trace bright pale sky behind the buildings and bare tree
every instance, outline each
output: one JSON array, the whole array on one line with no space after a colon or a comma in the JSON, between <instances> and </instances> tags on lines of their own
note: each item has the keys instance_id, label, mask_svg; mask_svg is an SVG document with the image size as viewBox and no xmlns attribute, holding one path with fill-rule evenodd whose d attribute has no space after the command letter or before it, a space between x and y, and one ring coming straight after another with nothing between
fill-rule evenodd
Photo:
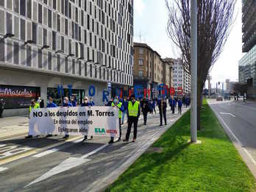
<instances>
[{"instance_id":1,"label":"bright pale sky behind the buildings and bare tree","mask_svg":"<svg viewBox=\"0 0 256 192\"><path fill-rule=\"evenodd\" d=\"M216 82L225 82L225 79L238 81L238 62L243 57L241 6L241 1L238 1L235 23L224 50L210 71L212 88L216 88ZM163 58L177 58L179 51L166 32L167 21L165 0L134 0L134 42L147 43Z\"/></svg>"}]
</instances>

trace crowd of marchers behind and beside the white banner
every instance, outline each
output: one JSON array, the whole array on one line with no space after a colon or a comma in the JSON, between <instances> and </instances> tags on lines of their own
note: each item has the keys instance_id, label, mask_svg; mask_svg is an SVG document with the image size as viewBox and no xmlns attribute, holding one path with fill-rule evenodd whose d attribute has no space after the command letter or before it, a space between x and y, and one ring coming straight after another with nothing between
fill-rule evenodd
<instances>
[{"instance_id":1,"label":"crowd of marchers behind and beside the white banner","mask_svg":"<svg viewBox=\"0 0 256 192\"><path fill-rule=\"evenodd\" d=\"M138 127L138 119L143 114L143 122L144 125L146 125L147 116L148 114L156 114L156 107L158 107L159 115L160 115L160 126L163 126L163 120L164 123L167 124L166 120L166 110L168 107L171 108L171 113L175 113L175 108L178 107L178 114L182 114L182 105L185 105L188 107L190 105L190 98L183 96L182 98L177 97L169 97L166 98L154 98L154 99L147 99L144 97L141 100L138 100L135 98L135 95L132 94L130 97L124 96L123 99L119 99L118 96L115 96L113 99L110 99L109 102L105 104L105 106L110 107L118 107L119 113L118 113L118 121L119 121L119 138L118 141L121 141L121 125L124 124L124 117L127 115L127 134L125 135L124 142L129 141L129 135L132 129L133 125L133 139L132 142L135 142L137 138L137 127ZM71 96L71 99L68 99L68 97L63 98L63 102L60 107L77 107L77 99L75 96ZM80 107L93 107L95 106L95 103L93 102L92 98L88 98L88 96L85 96L84 99L82 99L82 104L79 105ZM44 107L44 102L42 99L38 98L38 100L32 99L31 105L29 106L29 113L32 109L39 109ZM54 99L49 97L47 101L47 108L51 107L57 107L57 104L54 103ZM46 137L51 137L52 135L46 135ZM32 135L26 136L26 138L32 138ZM64 139L69 138L69 135L66 134ZM90 139L92 139L93 136L90 136ZM88 135L85 135L84 141L88 140ZM109 143L114 143L114 138L110 138Z\"/></svg>"}]
</instances>

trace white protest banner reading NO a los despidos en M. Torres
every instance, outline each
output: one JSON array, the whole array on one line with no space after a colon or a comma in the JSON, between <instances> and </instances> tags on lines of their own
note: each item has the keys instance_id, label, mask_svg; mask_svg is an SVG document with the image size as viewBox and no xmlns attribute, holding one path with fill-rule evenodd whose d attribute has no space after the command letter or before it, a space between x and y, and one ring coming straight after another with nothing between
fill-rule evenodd
<instances>
[{"instance_id":1,"label":"white protest banner reading NO a los despidos en M. Torres","mask_svg":"<svg viewBox=\"0 0 256 192\"><path fill-rule=\"evenodd\" d=\"M32 110L29 135L119 137L118 108L56 107Z\"/></svg>"}]
</instances>

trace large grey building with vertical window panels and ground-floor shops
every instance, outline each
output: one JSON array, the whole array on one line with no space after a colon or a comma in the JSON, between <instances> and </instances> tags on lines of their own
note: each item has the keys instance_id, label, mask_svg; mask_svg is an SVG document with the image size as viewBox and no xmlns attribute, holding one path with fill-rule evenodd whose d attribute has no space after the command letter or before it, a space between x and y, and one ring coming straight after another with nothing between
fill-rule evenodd
<instances>
[{"instance_id":1,"label":"large grey building with vertical window panels and ground-floor shops","mask_svg":"<svg viewBox=\"0 0 256 192\"><path fill-rule=\"evenodd\" d=\"M0 0L0 24L5 116L57 101L58 86L80 103L94 85L102 105L107 82L133 85L133 0Z\"/></svg>"}]
</instances>

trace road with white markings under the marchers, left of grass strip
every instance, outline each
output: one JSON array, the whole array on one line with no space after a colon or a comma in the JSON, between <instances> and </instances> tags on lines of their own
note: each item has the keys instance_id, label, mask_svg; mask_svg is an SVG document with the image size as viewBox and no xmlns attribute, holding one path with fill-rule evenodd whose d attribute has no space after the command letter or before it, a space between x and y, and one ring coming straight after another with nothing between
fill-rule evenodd
<instances>
[{"instance_id":1,"label":"road with white markings under the marchers, left of grass strip","mask_svg":"<svg viewBox=\"0 0 256 192\"><path fill-rule=\"evenodd\" d=\"M58 136L0 141L0 191L102 191L179 117L168 110L168 126L163 127L158 114L149 115L146 126L141 119L135 143L108 145L109 138L100 137L63 141ZM125 125L123 137L126 130Z\"/></svg>"}]
</instances>

